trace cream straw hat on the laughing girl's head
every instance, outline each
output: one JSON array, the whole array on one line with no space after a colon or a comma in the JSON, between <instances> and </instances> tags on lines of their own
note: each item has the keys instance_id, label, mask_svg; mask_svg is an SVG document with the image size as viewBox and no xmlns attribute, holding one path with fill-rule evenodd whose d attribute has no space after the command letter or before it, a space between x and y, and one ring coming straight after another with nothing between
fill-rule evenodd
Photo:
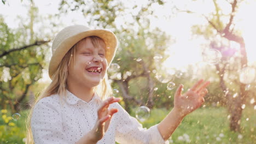
<instances>
[{"instance_id":1,"label":"cream straw hat on the laughing girl's head","mask_svg":"<svg viewBox=\"0 0 256 144\"><path fill-rule=\"evenodd\" d=\"M53 74L59 67L62 58L71 47L86 37L97 36L104 40L106 44L106 59L108 65L112 62L115 51L117 51L117 37L113 32L106 29L90 29L83 25L74 25L62 29L54 38L51 50L53 56L49 64L49 76L52 79Z\"/></svg>"}]
</instances>

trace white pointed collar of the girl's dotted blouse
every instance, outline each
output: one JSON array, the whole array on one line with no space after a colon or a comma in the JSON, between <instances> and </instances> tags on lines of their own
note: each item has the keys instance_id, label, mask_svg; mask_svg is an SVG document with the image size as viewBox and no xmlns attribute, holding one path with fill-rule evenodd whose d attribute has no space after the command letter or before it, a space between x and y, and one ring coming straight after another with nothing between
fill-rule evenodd
<instances>
[{"instance_id":1,"label":"white pointed collar of the girl's dotted blouse","mask_svg":"<svg viewBox=\"0 0 256 144\"><path fill-rule=\"evenodd\" d=\"M75 96L73 93L69 92L67 89L67 95L66 95L66 101L68 104L71 104L71 105L74 105L74 104L77 104L78 101L82 101L83 103L86 103L86 101L78 98L77 96ZM88 103L91 103L92 101L102 101L101 98L98 96L97 93L94 93L94 96L92 97L92 99L88 102Z\"/></svg>"}]
</instances>

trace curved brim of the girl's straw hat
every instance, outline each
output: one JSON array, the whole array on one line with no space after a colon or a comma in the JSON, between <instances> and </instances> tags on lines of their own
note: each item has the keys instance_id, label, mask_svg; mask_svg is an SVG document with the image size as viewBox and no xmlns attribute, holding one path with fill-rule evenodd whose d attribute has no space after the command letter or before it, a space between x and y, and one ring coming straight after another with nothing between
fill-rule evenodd
<instances>
[{"instance_id":1,"label":"curved brim of the girl's straw hat","mask_svg":"<svg viewBox=\"0 0 256 144\"><path fill-rule=\"evenodd\" d=\"M71 49L71 47L78 43L78 41L90 36L97 36L104 40L106 44L107 62L108 64L112 62L115 51L117 50L117 37L113 32L107 31L106 29L90 29L62 40L61 43L56 47L49 64L50 79L52 79L53 74L59 67L62 58Z\"/></svg>"}]
</instances>

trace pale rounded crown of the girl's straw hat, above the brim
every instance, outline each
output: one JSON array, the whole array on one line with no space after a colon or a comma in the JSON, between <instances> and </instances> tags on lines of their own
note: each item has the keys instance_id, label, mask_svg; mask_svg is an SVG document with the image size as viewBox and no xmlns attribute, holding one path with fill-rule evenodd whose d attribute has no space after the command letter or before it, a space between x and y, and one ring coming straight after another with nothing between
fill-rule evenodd
<instances>
[{"instance_id":1,"label":"pale rounded crown of the girl's straw hat, above the brim","mask_svg":"<svg viewBox=\"0 0 256 144\"><path fill-rule=\"evenodd\" d=\"M54 53L56 48L62 43L62 41L65 41L73 35L88 31L90 29L91 28L83 25L73 25L62 29L54 38L53 45L51 46L51 52Z\"/></svg>"}]
</instances>

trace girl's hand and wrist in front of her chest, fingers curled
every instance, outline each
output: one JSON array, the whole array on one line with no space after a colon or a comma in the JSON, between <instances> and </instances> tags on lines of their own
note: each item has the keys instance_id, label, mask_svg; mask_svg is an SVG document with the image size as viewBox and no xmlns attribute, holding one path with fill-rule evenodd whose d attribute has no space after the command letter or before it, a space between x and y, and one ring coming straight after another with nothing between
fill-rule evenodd
<instances>
[{"instance_id":1,"label":"girl's hand and wrist in front of her chest, fingers curled","mask_svg":"<svg viewBox=\"0 0 256 144\"><path fill-rule=\"evenodd\" d=\"M92 140L94 142L97 142L102 139L105 132L108 129L108 125L110 122L110 119L114 115L114 113L118 112L118 109L108 109L108 106L112 103L119 102L120 98L114 98L110 97L103 101L100 108L98 109L98 119L94 126L94 128L91 130L92 132Z\"/></svg>"}]
</instances>

